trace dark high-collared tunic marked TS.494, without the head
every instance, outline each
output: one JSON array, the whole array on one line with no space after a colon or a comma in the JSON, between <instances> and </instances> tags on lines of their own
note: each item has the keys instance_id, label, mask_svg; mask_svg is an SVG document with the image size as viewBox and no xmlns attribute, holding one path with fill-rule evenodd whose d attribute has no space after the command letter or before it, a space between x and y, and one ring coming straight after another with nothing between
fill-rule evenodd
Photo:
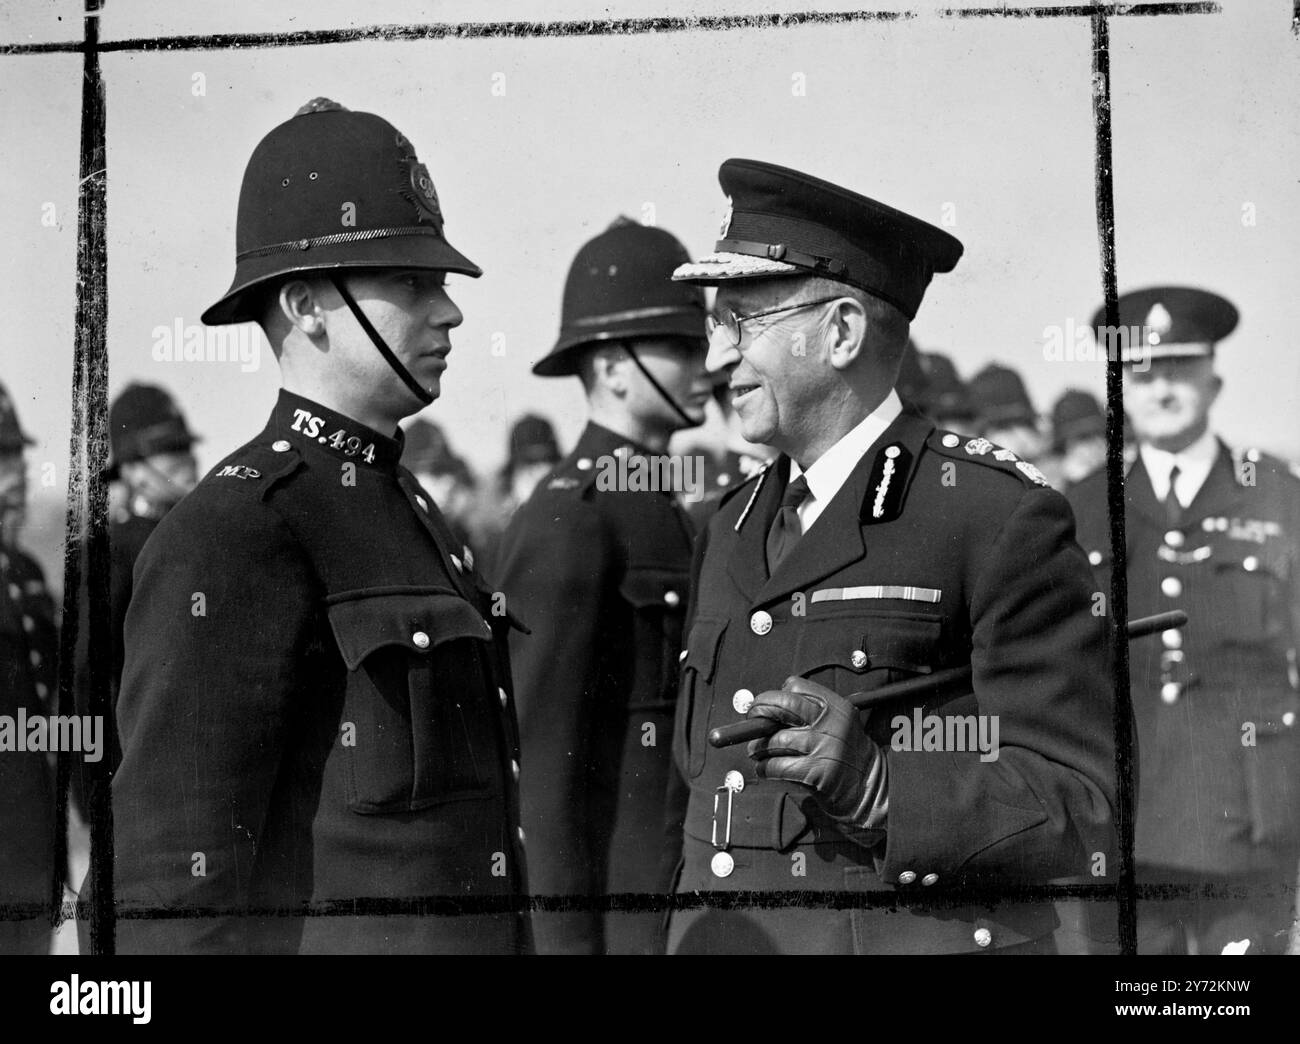
<instances>
[{"instance_id":1,"label":"dark high-collared tunic marked TS.494, without the head","mask_svg":"<svg viewBox=\"0 0 1300 1044\"><path fill-rule=\"evenodd\" d=\"M148 541L118 900L277 913L120 919L118 952L528 945L508 616L400 449L282 391Z\"/></svg>"}]
</instances>

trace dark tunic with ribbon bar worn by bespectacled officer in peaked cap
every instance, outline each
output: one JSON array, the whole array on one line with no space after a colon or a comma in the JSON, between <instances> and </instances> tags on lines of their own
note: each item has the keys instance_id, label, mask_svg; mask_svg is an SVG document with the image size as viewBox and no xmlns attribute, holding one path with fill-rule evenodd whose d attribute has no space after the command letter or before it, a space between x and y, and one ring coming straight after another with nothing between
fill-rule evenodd
<instances>
[{"instance_id":1,"label":"dark tunic with ribbon bar worn by bespectacled officer in peaked cap","mask_svg":"<svg viewBox=\"0 0 1300 1044\"><path fill-rule=\"evenodd\" d=\"M673 738L690 787L677 892L777 894L675 913L670 950L1050 948L1050 902L1018 889L1118 871L1108 631L1069 506L1014 454L909 410L768 577L788 468L779 458L737 489L702 538ZM790 675L848 696L962 664L974 694L866 716L889 774L875 845L841 832L809 788L758 779L744 745L706 740ZM920 737L894 749L897 718L914 712L996 715L997 759ZM809 894L831 892L885 904Z\"/></svg>"}]
</instances>

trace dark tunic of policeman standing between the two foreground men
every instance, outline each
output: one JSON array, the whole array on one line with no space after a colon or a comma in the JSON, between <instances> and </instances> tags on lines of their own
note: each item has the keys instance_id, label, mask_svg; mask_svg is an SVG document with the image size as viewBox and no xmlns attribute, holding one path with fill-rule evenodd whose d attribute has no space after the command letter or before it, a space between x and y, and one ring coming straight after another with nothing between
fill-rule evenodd
<instances>
[{"instance_id":1,"label":"dark tunic of policeman standing between the two foreground men","mask_svg":"<svg viewBox=\"0 0 1300 1044\"><path fill-rule=\"evenodd\" d=\"M663 945L662 914L602 918L594 902L663 894L670 884L664 788L690 524L672 491L602 489L601 480L615 462L634 467L646 454L589 424L502 543L500 588L532 629L511 640L529 884L580 906L534 914L541 952Z\"/></svg>"}]
</instances>

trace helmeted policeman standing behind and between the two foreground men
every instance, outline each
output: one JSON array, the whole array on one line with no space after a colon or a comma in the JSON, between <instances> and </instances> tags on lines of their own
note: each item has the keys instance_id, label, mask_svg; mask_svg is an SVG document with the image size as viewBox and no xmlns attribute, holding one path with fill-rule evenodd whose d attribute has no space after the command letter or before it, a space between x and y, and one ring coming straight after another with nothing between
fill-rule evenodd
<instances>
[{"instance_id":1,"label":"helmeted policeman standing behind and between the two foreground men","mask_svg":"<svg viewBox=\"0 0 1300 1044\"><path fill-rule=\"evenodd\" d=\"M663 946L662 913L597 904L670 887L664 789L693 536L672 478L698 476L680 458L673 472L667 447L703 421L711 393L703 294L671 281L686 260L667 231L616 221L575 257L559 338L533 367L578 377L589 413L500 551L500 588L532 628L511 642L530 884L578 904L534 914L545 953Z\"/></svg>"}]
</instances>

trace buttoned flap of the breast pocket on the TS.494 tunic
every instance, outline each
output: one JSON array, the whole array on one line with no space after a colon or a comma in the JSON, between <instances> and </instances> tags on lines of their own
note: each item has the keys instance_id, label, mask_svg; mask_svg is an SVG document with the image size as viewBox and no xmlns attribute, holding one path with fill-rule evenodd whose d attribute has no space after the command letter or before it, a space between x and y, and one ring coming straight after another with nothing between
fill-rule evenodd
<instances>
[{"instance_id":1,"label":"buttoned flap of the breast pocket on the TS.494 tunic","mask_svg":"<svg viewBox=\"0 0 1300 1044\"><path fill-rule=\"evenodd\" d=\"M348 594L329 606L329 623L348 671L390 645L428 653L455 638L491 641L488 621L451 593Z\"/></svg>"}]
</instances>

